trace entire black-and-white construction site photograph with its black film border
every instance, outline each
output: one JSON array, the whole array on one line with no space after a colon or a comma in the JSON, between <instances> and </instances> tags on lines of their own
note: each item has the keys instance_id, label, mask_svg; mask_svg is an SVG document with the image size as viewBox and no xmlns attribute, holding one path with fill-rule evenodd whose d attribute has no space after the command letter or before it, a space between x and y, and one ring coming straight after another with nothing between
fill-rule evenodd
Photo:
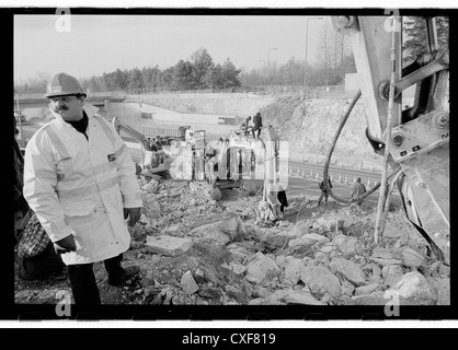
<instances>
[{"instance_id":1,"label":"entire black-and-white construction site photograph with its black film border","mask_svg":"<svg viewBox=\"0 0 458 350\"><path fill-rule=\"evenodd\" d=\"M453 11L12 12L14 307L396 320L453 305Z\"/></svg>"}]
</instances>

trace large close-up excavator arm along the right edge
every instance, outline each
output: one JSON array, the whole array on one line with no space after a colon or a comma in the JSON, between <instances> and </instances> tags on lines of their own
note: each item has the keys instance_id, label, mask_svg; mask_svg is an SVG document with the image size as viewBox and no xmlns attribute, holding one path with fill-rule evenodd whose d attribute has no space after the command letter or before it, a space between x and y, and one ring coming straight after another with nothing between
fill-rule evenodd
<instances>
[{"instance_id":1,"label":"large close-up excavator arm along the right edge","mask_svg":"<svg viewBox=\"0 0 458 350\"><path fill-rule=\"evenodd\" d=\"M390 26L388 16L334 16L336 31L352 39L363 100L366 136L376 153L401 167L398 187L409 220L449 261L449 113L444 109L448 83L448 49L439 50L434 18L426 18L427 52L403 67L402 18ZM394 39L393 39L393 32ZM396 48L396 57L392 55ZM393 67L394 62L394 67ZM391 138L387 140L390 77L394 71ZM415 85L413 106L402 110L402 92Z\"/></svg>"}]
</instances>

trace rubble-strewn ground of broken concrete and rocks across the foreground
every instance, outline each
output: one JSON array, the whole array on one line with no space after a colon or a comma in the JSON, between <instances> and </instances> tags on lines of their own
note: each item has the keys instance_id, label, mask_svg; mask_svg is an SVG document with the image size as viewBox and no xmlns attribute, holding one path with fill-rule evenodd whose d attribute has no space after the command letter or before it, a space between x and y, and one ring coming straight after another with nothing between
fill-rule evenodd
<instances>
[{"instance_id":1,"label":"rubble-strewn ground of broken concrete and rocks across the foreground","mask_svg":"<svg viewBox=\"0 0 458 350\"><path fill-rule=\"evenodd\" d=\"M402 305L450 304L449 267L400 208L376 244L376 208L367 205L288 198L284 220L265 224L256 219L260 186L140 185L144 213L123 262L140 273L113 288L95 264L104 304L386 305L393 296ZM56 303L59 291L69 291L66 278L15 279L16 303Z\"/></svg>"}]
</instances>

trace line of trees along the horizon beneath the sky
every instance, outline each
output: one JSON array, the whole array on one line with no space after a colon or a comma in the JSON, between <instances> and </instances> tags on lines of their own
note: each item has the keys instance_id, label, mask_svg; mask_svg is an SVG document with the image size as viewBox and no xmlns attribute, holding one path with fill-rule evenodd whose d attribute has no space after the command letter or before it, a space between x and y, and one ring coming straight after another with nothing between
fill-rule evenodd
<instances>
[{"instance_id":1,"label":"line of trees along the horizon beneath the sky","mask_svg":"<svg viewBox=\"0 0 458 350\"><path fill-rule=\"evenodd\" d=\"M448 47L448 18L436 18L439 48ZM423 18L409 16L403 26L403 57L408 63L427 52L426 24ZM262 85L309 86L339 85L345 81L345 74L355 73L355 60L347 35L333 31L327 23L319 34L319 60L307 63L291 57L286 63L265 62L263 67L250 71L236 68L227 58L215 63L206 48L199 48L187 60L180 61L161 70L158 66L142 69L116 69L81 79L84 89L90 91L187 91L187 90L230 90ZM388 54L387 54L388 55ZM39 72L26 82L16 82L20 93L42 93L50 80L50 74Z\"/></svg>"}]
</instances>

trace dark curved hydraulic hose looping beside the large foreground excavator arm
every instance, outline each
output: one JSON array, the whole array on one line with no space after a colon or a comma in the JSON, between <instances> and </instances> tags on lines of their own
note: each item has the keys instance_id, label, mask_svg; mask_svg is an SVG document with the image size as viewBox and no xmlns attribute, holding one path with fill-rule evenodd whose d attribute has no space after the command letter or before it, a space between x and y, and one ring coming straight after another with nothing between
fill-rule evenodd
<instances>
[{"instance_id":1,"label":"dark curved hydraulic hose looping beside the large foreground excavator arm","mask_svg":"<svg viewBox=\"0 0 458 350\"><path fill-rule=\"evenodd\" d=\"M350 104L348 109L346 110L345 115L343 116L343 118L342 118L342 120L341 120L341 122L339 125L339 128L337 128L337 131L334 135L334 138L332 139L331 148L330 148L330 150L328 152L328 156L327 156L327 160L324 162L323 179L327 179L328 178L329 164L331 162L331 156L332 156L332 153L334 152L335 144L337 143L337 140L339 140L339 137L340 137L340 135L342 132L342 129L345 126L346 120L348 119L350 114L352 113L353 108L355 107L355 104L359 100L360 95L362 95L362 92L360 92L360 90L358 90L356 92L355 96L353 97L353 101ZM392 177L396 173L398 173L398 171L399 170L392 172L387 178ZM368 190L364 195L359 196L358 198L356 198L356 199L354 199L354 198L346 199L346 198L342 198L342 197L339 197L337 195L335 195L332 191L332 189L329 187L329 184L328 184L327 180L323 180L323 184L324 184L324 188L327 189L327 191L329 192L329 195L332 198L334 198L339 202L347 203L347 205L351 205L351 203L353 203L355 201L359 201L359 200L366 199L367 197L369 197L371 194L374 194L380 187L380 183L377 183L370 190Z\"/></svg>"}]
</instances>

